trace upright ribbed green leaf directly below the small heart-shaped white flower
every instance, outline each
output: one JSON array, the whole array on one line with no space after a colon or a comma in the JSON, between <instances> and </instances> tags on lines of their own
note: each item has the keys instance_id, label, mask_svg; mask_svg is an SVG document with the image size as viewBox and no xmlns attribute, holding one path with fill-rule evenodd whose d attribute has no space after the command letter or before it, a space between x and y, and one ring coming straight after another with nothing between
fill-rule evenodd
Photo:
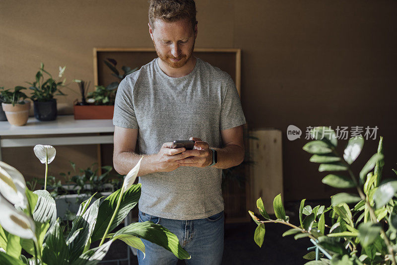
<instances>
[{"instance_id":1,"label":"upright ribbed green leaf directly below the small heart-shaped white flower","mask_svg":"<svg viewBox=\"0 0 397 265\"><path fill-rule=\"evenodd\" d=\"M51 227L57 220L57 207L54 198L45 190L39 190L33 193L38 196L33 212L33 219L40 223L50 221Z\"/></svg>"}]
</instances>

